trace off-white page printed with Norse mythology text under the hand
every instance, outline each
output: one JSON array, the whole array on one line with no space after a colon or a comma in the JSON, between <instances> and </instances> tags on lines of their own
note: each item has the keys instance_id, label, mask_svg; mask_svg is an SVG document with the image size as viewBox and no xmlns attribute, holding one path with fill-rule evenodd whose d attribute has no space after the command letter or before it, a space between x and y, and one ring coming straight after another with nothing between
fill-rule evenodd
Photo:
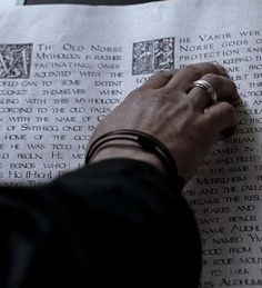
<instances>
[{"instance_id":1,"label":"off-white page printed with Norse mythology text under the hand","mask_svg":"<svg viewBox=\"0 0 262 288\"><path fill-rule=\"evenodd\" d=\"M184 189L203 241L200 287L261 287L261 11L260 0L1 9L1 186L81 167L97 125L152 73L221 63L242 103L235 136Z\"/></svg>"}]
</instances>

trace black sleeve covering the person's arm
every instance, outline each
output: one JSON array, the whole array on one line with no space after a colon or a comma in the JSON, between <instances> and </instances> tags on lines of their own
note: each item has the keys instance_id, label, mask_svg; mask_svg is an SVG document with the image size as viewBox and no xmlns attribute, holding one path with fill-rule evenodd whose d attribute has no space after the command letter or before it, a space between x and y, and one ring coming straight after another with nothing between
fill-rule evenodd
<instances>
[{"instance_id":1,"label":"black sleeve covering the person's arm","mask_svg":"<svg viewBox=\"0 0 262 288\"><path fill-rule=\"evenodd\" d=\"M0 287L198 287L183 181L134 160L0 191Z\"/></svg>"}]
</instances>

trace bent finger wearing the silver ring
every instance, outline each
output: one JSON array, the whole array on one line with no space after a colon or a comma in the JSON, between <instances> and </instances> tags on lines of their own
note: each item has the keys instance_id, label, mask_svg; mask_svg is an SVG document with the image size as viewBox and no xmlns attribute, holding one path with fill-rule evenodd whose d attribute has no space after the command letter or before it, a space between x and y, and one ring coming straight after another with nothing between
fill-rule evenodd
<instances>
[{"instance_id":1,"label":"bent finger wearing the silver ring","mask_svg":"<svg viewBox=\"0 0 262 288\"><path fill-rule=\"evenodd\" d=\"M205 80L211 85L216 93L216 101L225 101L229 103L236 102L240 97L234 82L220 75L204 75L201 80ZM193 87L187 96L195 109L203 111L212 103L211 96L201 87Z\"/></svg>"}]
</instances>

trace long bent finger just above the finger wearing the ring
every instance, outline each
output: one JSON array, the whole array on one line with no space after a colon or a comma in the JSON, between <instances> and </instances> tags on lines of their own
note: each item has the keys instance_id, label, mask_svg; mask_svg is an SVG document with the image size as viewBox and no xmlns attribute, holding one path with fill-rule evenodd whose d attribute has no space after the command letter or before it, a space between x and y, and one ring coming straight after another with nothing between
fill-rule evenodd
<instances>
[{"instance_id":1,"label":"long bent finger just above the finger wearing the ring","mask_svg":"<svg viewBox=\"0 0 262 288\"><path fill-rule=\"evenodd\" d=\"M222 66L212 63L198 63L180 69L168 82L167 87L171 89L177 88L181 91L187 92L193 81L201 79L204 75L208 73L229 77L226 70Z\"/></svg>"}]
</instances>

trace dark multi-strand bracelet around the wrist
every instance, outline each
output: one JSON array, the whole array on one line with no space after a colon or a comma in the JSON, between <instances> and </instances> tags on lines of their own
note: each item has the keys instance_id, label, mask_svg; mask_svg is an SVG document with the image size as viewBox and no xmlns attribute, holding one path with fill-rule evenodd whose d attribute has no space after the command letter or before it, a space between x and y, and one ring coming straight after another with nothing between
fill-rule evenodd
<instances>
[{"instance_id":1,"label":"dark multi-strand bracelet around the wrist","mask_svg":"<svg viewBox=\"0 0 262 288\"><path fill-rule=\"evenodd\" d=\"M168 176L172 177L178 175L177 165L169 149L155 137L132 129L111 131L97 138L88 150L85 163L93 158L93 156L102 148L104 143L114 140L129 140L139 143L144 151L153 153L158 157Z\"/></svg>"}]
</instances>

